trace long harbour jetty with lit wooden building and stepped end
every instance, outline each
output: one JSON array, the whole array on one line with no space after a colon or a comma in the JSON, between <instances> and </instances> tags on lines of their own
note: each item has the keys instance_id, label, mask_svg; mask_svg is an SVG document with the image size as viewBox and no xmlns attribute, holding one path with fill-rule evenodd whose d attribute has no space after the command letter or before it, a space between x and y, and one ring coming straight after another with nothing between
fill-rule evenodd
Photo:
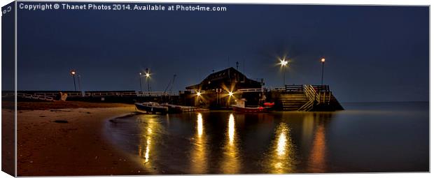
<instances>
[{"instance_id":1,"label":"long harbour jetty with lit wooden building and stepped end","mask_svg":"<svg viewBox=\"0 0 434 178\"><path fill-rule=\"evenodd\" d=\"M18 101L86 101L103 103L156 102L231 110L243 99L246 107L275 103L272 110L344 110L328 85L291 84L267 89L264 80L251 80L235 68L211 73L177 94L165 91L18 91ZM65 97L66 94L66 97ZM5 94L2 97L10 97Z\"/></svg>"}]
</instances>

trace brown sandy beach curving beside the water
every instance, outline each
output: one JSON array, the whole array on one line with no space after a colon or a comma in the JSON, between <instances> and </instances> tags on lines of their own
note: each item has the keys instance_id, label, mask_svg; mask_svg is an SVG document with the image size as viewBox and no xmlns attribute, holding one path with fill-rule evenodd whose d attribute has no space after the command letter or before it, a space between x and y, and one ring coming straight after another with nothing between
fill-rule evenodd
<instances>
[{"instance_id":1,"label":"brown sandy beach curving beside the water","mask_svg":"<svg viewBox=\"0 0 434 178\"><path fill-rule=\"evenodd\" d=\"M134 111L133 105L18 110L18 176L158 173L146 172L104 135L109 119Z\"/></svg>"}]
</instances>

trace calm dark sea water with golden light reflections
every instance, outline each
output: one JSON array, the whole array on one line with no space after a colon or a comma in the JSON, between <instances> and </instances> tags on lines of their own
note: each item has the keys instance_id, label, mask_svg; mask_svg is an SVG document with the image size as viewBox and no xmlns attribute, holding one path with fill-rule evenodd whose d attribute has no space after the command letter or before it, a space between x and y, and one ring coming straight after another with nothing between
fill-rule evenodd
<instances>
[{"instance_id":1,"label":"calm dark sea water with golden light reflections","mask_svg":"<svg viewBox=\"0 0 434 178\"><path fill-rule=\"evenodd\" d=\"M428 103L339 112L137 114L107 124L120 149L164 174L429 171Z\"/></svg>"}]
</instances>

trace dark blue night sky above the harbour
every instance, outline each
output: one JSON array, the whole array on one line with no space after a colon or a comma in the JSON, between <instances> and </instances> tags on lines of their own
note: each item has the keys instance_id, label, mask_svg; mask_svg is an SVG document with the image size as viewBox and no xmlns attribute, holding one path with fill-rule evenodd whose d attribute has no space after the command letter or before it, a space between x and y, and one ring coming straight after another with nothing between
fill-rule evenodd
<instances>
[{"instance_id":1,"label":"dark blue night sky above the harbour","mask_svg":"<svg viewBox=\"0 0 434 178\"><path fill-rule=\"evenodd\" d=\"M71 4L71 3L70 3ZM169 4L166 4L169 5ZM208 6L211 6L208 4ZM344 102L428 101L429 8L221 5L226 12L18 10L18 90L176 90L240 62L252 79L281 87L324 82Z\"/></svg>"}]
</instances>

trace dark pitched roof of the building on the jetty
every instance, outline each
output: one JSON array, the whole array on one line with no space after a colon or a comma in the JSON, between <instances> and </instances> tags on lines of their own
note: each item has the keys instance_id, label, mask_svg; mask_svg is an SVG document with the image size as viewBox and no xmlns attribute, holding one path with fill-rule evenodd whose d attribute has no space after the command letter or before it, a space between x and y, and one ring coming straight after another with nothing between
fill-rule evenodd
<instances>
[{"instance_id":1,"label":"dark pitched roof of the building on the jetty","mask_svg":"<svg viewBox=\"0 0 434 178\"><path fill-rule=\"evenodd\" d=\"M251 89L260 88L262 84L258 81L248 79L246 75L230 67L216 73L211 73L202 80L200 84L186 87L186 89L208 90L222 88L223 86L233 86L233 89Z\"/></svg>"}]
</instances>

